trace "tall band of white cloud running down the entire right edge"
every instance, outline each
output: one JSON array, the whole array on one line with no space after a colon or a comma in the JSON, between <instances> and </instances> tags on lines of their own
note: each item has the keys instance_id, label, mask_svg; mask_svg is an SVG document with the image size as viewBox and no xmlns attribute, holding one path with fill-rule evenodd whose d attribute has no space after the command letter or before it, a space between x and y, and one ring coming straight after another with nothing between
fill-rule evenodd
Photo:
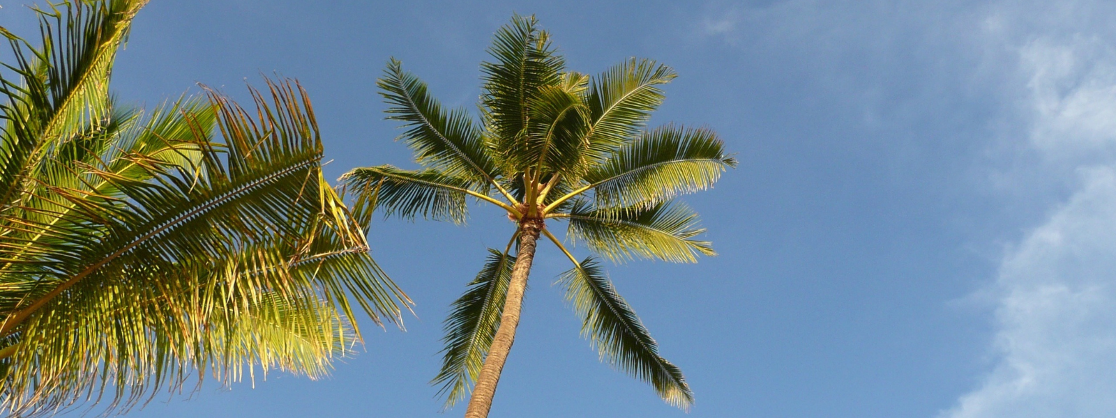
<instances>
[{"instance_id":1,"label":"tall band of white cloud running down the entire right edge","mask_svg":"<svg viewBox=\"0 0 1116 418\"><path fill-rule=\"evenodd\" d=\"M942 417L1116 416L1116 13L1057 3L1010 3L985 29L1018 54L1020 145L1077 188L1003 257L995 366Z\"/></svg>"}]
</instances>

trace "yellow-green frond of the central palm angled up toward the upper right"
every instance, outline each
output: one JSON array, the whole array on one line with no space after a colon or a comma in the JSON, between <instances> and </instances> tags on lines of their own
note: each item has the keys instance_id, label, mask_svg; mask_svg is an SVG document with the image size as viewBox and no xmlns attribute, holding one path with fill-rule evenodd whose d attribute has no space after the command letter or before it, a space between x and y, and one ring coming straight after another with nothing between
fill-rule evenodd
<instances>
[{"instance_id":1,"label":"yellow-green frond of the central palm angled up toward the upper right","mask_svg":"<svg viewBox=\"0 0 1116 418\"><path fill-rule=\"evenodd\" d=\"M593 125L586 135L593 156L603 159L635 137L663 104L660 86L676 76L671 67L632 58L594 77L587 100Z\"/></svg>"}]
</instances>

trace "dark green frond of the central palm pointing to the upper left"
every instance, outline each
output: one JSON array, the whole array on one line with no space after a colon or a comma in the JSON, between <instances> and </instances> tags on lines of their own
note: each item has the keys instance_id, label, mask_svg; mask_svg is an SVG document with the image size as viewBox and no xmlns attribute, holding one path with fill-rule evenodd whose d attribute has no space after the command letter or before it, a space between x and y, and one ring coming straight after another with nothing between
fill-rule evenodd
<instances>
[{"instance_id":1,"label":"dark green frond of the central palm pointing to the upper left","mask_svg":"<svg viewBox=\"0 0 1116 418\"><path fill-rule=\"evenodd\" d=\"M387 118L404 123L400 138L414 149L416 162L449 176L494 184L496 164L468 113L442 109L426 93L426 84L403 71L395 59L376 84L391 105Z\"/></svg>"}]
</instances>

